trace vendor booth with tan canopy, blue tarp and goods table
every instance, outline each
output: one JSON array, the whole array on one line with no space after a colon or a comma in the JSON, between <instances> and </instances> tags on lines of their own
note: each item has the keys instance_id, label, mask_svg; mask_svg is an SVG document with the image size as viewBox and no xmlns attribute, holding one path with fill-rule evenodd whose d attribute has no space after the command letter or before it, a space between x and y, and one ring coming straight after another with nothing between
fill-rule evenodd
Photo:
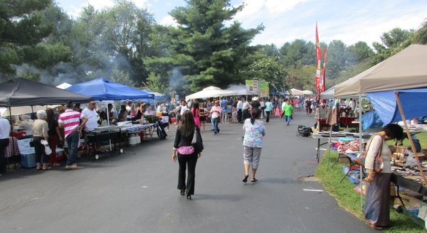
<instances>
[{"instance_id":1,"label":"vendor booth with tan canopy, blue tarp and goods table","mask_svg":"<svg viewBox=\"0 0 427 233\"><path fill-rule=\"evenodd\" d=\"M422 157L417 155L411 135L425 130L425 127L408 126L406 119L427 115L427 108L424 106L427 97L426 88L423 88L427 87L426 64L427 45L410 45L400 53L336 85L328 90L329 93L324 94L324 97L330 97L330 93L334 92L334 98L357 97L359 99L359 112L362 112L360 101L366 95L371 100L384 125L390 122L403 121L404 131L411 143L411 148L401 148L405 149L404 152L399 152L399 148L396 152L396 148L394 148L394 151L397 154L411 153L414 159L411 166L406 166L406 163L403 163L404 168L393 167L391 181L418 193L420 190L426 190L427 182L423 170L427 170L427 166L420 163ZM316 135L319 136L319 134ZM362 135L364 133L362 133L362 120L360 120L359 151L362 151ZM347 156L354 161L354 154L352 153L345 153L344 151L340 155ZM395 157L395 159L402 164L401 159L404 160L404 157ZM402 172L402 169L405 171ZM359 171L359 180L362 180L362 169ZM397 195L399 196L399 192ZM361 198L361 206L363 206L363 198Z\"/></svg>"}]
</instances>

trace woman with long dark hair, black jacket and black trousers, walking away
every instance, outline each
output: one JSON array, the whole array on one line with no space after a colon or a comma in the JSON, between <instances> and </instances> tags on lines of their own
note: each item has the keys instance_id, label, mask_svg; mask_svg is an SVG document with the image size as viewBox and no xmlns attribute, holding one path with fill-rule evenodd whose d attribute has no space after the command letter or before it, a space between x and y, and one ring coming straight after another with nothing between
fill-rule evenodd
<instances>
[{"instance_id":1,"label":"woman with long dark hair, black jacket and black trousers, walking away","mask_svg":"<svg viewBox=\"0 0 427 233\"><path fill-rule=\"evenodd\" d=\"M196 163L197 159L201 156L201 153L196 153L194 147L191 146L195 127L193 114L190 111L184 112L176 130L174 148L172 150L172 160L174 162L176 162L176 152L178 152L178 189L181 190L181 195L186 195L188 200L191 200L191 195L194 195ZM185 183L186 167L188 167L189 176Z\"/></svg>"}]
</instances>

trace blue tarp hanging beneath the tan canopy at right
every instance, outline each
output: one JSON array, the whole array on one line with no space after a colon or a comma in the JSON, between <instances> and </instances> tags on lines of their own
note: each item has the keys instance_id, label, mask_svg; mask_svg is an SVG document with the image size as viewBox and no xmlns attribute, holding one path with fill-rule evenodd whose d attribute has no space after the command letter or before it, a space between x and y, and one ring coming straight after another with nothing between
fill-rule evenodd
<instances>
[{"instance_id":1,"label":"blue tarp hanging beneath the tan canopy at right","mask_svg":"<svg viewBox=\"0 0 427 233\"><path fill-rule=\"evenodd\" d=\"M384 125L402 120L394 92L399 93L406 119L427 116L427 88L367 93Z\"/></svg>"}]
</instances>

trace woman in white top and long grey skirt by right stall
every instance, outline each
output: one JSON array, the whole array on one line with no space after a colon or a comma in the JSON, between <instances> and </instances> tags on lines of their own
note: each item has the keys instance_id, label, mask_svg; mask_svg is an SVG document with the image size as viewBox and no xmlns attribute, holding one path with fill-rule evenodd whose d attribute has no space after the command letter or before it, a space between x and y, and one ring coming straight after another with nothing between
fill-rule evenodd
<instances>
[{"instance_id":1,"label":"woman in white top and long grey skirt by right stall","mask_svg":"<svg viewBox=\"0 0 427 233\"><path fill-rule=\"evenodd\" d=\"M374 229L383 229L390 222L390 178L391 152L386 141L391 139L401 139L403 129L397 124L387 124L381 132L372 136L369 148L367 148L367 158L365 168L369 175L367 181L367 195L364 206L364 217L367 224ZM375 157L379 154L383 159L384 167L381 173L375 173Z\"/></svg>"}]
</instances>

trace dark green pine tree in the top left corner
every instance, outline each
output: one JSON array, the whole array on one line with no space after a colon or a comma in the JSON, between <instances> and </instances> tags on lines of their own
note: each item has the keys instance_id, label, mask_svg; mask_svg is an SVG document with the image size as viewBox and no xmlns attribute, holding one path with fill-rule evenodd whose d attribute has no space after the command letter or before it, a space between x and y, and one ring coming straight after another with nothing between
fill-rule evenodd
<instances>
[{"instance_id":1,"label":"dark green pine tree in the top left corner","mask_svg":"<svg viewBox=\"0 0 427 233\"><path fill-rule=\"evenodd\" d=\"M53 32L53 24L43 22L43 9L51 5L51 0L0 1L1 78L13 76L23 63L44 69L69 60L68 48L43 41Z\"/></svg>"}]
</instances>

